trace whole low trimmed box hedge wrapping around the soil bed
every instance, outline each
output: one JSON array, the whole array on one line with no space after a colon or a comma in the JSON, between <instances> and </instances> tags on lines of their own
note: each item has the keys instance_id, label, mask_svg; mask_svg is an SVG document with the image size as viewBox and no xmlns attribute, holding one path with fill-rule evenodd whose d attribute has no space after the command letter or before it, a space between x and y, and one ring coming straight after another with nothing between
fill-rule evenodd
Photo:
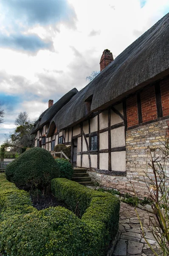
<instances>
[{"instance_id":1,"label":"whole low trimmed box hedge wrapping around the soil bed","mask_svg":"<svg viewBox=\"0 0 169 256\"><path fill-rule=\"evenodd\" d=\"M63 194L71 198L69 205L78 209L82 219L63 207L38 211L32 207L28 192L17 189L6 180L5 174L0 174L0 251L3 256L105 254L110 236L115 236L118 229L118 198L63 178L52 180L52 189L55 194L59 193L58 198L66 187L71 191L70 186L76 195L74 199L73 192ZM80 202L83 198L85 201ZM65 201L68 204L69 200ZM78 207L73 208L75 204Z\"/></svg>"}]
</instances>

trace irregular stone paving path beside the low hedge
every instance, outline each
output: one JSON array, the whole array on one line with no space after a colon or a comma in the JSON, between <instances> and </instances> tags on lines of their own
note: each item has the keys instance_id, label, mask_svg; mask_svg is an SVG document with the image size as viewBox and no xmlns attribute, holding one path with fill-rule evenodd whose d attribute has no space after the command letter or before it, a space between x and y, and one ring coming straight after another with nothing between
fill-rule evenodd
<instances>
[{"instance_id":1,"label":"irregular stone paving path beside the low hedge","mask_svg":"<svg viewBox=\"0 0 169 256\"><path fill-rule=\"evenodd\" d=\"M137 208L141 222L144 224L145 237L152 244L152 248L158 255L161 255L160 249L157 247L157 242L150 230L153 227L149 226L149 216L154 218L152 213L147 213L145 210ZM144 240L141 232L140 222L134 207L121 202L120 221L119 221L120 238L116 244L113 256L154 256L152 250Z\"/></svg>"}]
</instances>

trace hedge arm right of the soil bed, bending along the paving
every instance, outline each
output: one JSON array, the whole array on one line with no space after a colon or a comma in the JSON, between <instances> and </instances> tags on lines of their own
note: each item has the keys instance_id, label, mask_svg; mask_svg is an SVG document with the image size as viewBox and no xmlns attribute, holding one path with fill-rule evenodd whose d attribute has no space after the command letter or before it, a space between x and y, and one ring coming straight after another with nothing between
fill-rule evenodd
<instances>
[{"instance_id":1,"label":"hedge arm right of the soil bed, bending along the paving","mask_svg":"<svg viewBox=\"0 0 169 256\"><path fill-rule=\"evenodd\" d=\"M95 251L91 255L104 255L111 239L118 231L120 201L107 192L88 189L72 180L51 180L53 194L65 201L92 233L90 244Z\"/></svg>"}]
</instances>

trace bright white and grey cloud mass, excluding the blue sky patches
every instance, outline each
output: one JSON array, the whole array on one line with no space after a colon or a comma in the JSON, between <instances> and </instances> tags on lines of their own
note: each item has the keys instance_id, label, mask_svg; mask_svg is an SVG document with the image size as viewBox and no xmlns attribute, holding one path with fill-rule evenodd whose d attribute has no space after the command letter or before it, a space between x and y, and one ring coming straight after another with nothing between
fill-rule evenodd
<instances>
[{"instance_id":1,"label":"bright white and grey cloud mass, excluding the blue sky patches","mask_svg":"<svg viewBox=\"0 0 169 256\"><path fill-rule=\"evenodd\" d=\"M48 108L48 99L55 102L73 87L80 90L87 84L86 76L99 70L104 49L117 56L169 11L168 0L146 0L144 5L140 0L68 2L76 12L73 27L60 21L33 24L26 30L18 20L25 35L35 33L52 41L52 51L42 49L30 55L0 48L0 93L21 98L14 115L27 111L34 119ZM8 32L9 23L1 32Z\"/></svg>"}]
</instances>

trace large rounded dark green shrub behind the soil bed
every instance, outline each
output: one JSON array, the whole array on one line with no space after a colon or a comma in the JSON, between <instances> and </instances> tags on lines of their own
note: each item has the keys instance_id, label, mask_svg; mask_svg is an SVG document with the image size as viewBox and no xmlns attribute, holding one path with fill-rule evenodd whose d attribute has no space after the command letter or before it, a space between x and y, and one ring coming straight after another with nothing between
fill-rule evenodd
<instances>
[{"instance_id":1,"label":"large rounded dark green shrub behind the soil bed","mask_svg":"<svg viewBox=\"0 0 169 256\"><path fill-rule=\"evenodd\" d=\"M6 177L17 186L48 186L50 180L59 177L59 168L43 148L31 148L6 167Z\"/></svg>"}]
</instances>

